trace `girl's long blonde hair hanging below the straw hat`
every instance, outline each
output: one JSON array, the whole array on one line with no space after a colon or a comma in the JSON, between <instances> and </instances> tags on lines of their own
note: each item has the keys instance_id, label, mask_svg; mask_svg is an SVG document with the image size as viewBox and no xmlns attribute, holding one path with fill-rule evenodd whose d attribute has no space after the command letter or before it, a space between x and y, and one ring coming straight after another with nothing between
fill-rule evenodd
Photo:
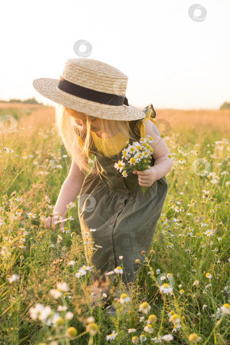
<instances>
[{"instance_id":1,"label":"girl's long blonde hair hanging below the straw hat","mask_svg":"<svg viewBox=\"0 0 230 345\"><path fill-rule=\"evenodd\" d=\"M86 136L84 141L78 135L81 127L74 121L74 119L79 118L79 115L86 119ZM120 133L122 137L124 136L126 138L136 140L135 134L129 132L130 126L126 126L128 122L127 120L120 121L102 119L78 112L77 110L73 110L62 104L57 104L55 108L55 129L63 141L67 154L75 161L79 169L84 172L89 172L90 170L88 167L88 160L92 155L92 141L90 133L90 121L92 119L98 120L99 129L102 132L102 150L105 149L105 145L114 148L116 143L112 137L118 133ZM108 135L109 140L106 140L105 134Z\"/></svg>"}]
</instances>

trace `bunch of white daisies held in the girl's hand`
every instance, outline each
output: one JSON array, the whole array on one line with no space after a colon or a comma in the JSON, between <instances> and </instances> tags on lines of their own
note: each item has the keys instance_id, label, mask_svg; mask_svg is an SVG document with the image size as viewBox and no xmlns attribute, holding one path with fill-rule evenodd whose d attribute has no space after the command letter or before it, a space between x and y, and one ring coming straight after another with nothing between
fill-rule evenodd
<instances>
[{"instance_id":1,"label":"bunch of white daisies held in the girl's hand","mask_svg":"<svg viewBox=\"0 0 230 345\"><path fill-rule=\"evenodd\" d=\"M140 138L139 141L134 141L132 145L128 145L122 151L122 158L128 160L128 164L122 161L114 164L114 168L119 170L122 173L123 177L127 177L127 171L133 172L134 170L142 171L150 169L149 163L151 163L150 158L152 156L153 148L149 144L153 142L151 136L146 136L145 138ZM143 194L147 190L147 187L141 186Z\"/></svg>"}]
</instances>

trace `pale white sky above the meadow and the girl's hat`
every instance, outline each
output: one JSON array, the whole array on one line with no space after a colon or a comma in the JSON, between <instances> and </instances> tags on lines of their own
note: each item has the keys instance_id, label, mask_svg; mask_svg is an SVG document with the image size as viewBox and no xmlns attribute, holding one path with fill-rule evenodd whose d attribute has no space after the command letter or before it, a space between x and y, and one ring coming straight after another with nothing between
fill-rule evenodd
<instances>
[{"instance_id":1,"label":"pale white sky above the meadow and the girl's hat","mask_svg":"<svg viewBox=\"0 0 230 345\"><path fill-rule=\"evenodd\" d=\"M88 58L128 75L131 105L219 109L230 102L230 1L200 1L4 1L0 100L55 106L33 80L59 79L67 59L83 56L85 45L81 56L73 49L83 39Z\"/></svg>"}]
</instances>

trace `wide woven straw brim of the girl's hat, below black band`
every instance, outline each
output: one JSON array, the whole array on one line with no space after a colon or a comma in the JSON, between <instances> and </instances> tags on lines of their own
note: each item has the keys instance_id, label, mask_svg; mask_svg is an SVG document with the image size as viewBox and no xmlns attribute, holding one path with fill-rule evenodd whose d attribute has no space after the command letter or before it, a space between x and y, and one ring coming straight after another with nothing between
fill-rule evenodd
<instances>
[{"instance_id":1,"label":"wide woven straw brim of the girl's hat, below black band","mask_svg":"<svg viewBox=\"0 0 230 345\"><path fill-rule=\"evenodd\" d=\"M49 100L62 104L73 110L84 112L91 116L108 120L138 120L145 117L145 113L137 107L129 105L109 105L88 101L62 91L58 88L60 79L39 78L33 80L34 89Z\"/></svg>"}]
</instances>

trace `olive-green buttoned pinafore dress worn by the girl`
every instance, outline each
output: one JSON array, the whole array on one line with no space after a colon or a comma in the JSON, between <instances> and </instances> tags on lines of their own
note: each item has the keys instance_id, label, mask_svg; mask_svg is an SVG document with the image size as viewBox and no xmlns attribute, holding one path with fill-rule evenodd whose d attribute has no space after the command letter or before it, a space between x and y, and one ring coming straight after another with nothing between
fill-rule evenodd
<instances>
[{"instance_id":1,"label":"olive-green buttoned pinafore dress worn by the girl","mask_svg":"<svg viewBox=\"0 0 230 345\"><path fill-rule=\"evenodd\" d=\"M140 139L138 123L141 120L130 121L129 128L135 134L136 141ZM80 137L84 140L83 131ZM130 139L129 143L133 141ZM143 195L137 174L130 172L123 177L114 168L114 163L123 159L123 149L111 157L103 156L92 139L90 151L95 159L84 179L78 200L78 217L87 263L92 266L92 276L98 279L103 279L105 273L121 266L121 280L131 282L140 267L135 260L143 263L141 251L144 250L145 255L149 251L167 194L166 177L154 181ZM153 157L149 165L154 165ZM123 259L119 259L119 256L123 256ZM110 279L114 281L115 276L111 274Z\"/></svg>"}]
</instances>

